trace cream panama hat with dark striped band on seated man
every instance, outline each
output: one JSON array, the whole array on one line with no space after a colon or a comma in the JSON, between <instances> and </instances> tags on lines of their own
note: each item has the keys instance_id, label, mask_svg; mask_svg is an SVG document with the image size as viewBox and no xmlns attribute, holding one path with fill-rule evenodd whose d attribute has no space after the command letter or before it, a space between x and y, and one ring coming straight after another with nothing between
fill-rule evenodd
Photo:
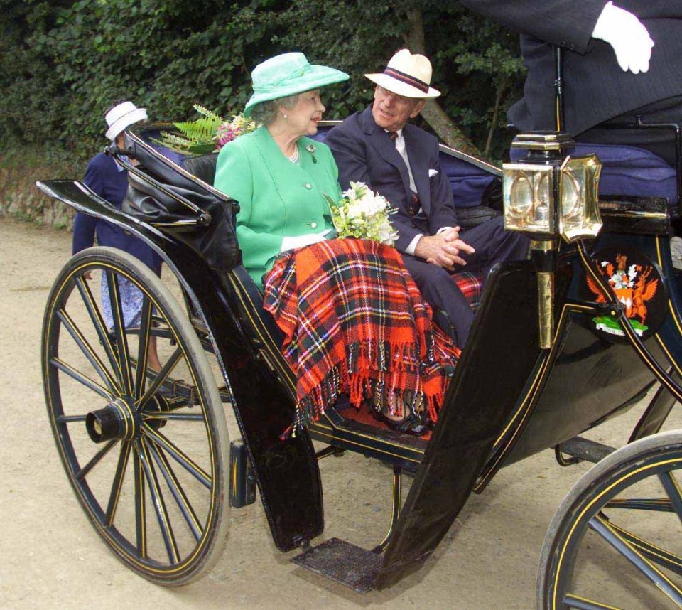
<instances>
[{"instance_id":1,"label":"cream panama hat with dark striped band on seated man","mask_svg":"<svg viewBox=\"0 0 682 610\"><path fill-rule=\"evenodd\" d=\"M372 82L404 97L438 97L431 87L431 62L423 55L412 55L407 49L396 53L381 74L366 74Z\"/></svg>"}]
</instances>

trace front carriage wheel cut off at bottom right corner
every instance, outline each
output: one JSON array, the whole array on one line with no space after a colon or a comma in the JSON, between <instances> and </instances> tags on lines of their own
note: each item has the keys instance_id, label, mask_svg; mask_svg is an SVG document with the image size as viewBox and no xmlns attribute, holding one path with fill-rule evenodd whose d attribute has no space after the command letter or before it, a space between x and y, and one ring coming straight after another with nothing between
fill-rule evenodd
<instances>
[{"instance_id":1,"label":"front carriage wheel cut off at bottom right corner","mask_svg":"<svg viewBox=\"0 0 682 610\"><path fill-rule=\"evenodd\" d=\"M554 514L538 609L682 608L682 431L600 461Z\"/></svg>"}]
</instances>

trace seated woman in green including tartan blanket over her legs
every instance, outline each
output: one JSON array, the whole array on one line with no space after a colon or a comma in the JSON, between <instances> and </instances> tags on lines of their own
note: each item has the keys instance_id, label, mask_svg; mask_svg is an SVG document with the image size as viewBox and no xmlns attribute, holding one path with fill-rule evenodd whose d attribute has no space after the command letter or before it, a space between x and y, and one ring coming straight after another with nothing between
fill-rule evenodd
<instances>
[{"instance_id":1,"label":"seated woman in green including tartan blanket over her legs","mask_svg":"<svg viewBox=\"0 0 682 610\"><path fill-rule=\"evenodd\" d=\"M424 434L443 400L445 366L458 351L431 326L431 310L394 248L335 237L328 198L339 201L338 169L318 131L320 87L348 75L284 53L256 66L244 109L261 123L229 142L215 187L239 203L243 264L264 289L264 309L284 334L297 375L293 428L349 395L377 418Z\"/></svg>"}]
</instances>

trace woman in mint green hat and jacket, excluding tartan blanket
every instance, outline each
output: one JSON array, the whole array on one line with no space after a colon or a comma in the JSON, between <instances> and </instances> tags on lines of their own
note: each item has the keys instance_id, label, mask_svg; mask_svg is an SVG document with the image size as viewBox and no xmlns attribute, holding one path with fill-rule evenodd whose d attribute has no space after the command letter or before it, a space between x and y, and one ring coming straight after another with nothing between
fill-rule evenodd
<instances>
[{"instance_id":1,"label":"woman in mint green hat and jacket, excluding tartan blanket","mask_svg":"<svg viewBox=\"0 0 682 610\"><path fill-rule=\"evenodd\" d=\"M325 239L334 227L325 195L338 201L338 168L330 149L307 136L325 107L320 87L348 75L284 53L253 72L254 95L244 116L262 126L218 155L215 187L239 202L237 240L244 267L262 287L263 274L285 250Z\"/></svg>"}]
</instances>

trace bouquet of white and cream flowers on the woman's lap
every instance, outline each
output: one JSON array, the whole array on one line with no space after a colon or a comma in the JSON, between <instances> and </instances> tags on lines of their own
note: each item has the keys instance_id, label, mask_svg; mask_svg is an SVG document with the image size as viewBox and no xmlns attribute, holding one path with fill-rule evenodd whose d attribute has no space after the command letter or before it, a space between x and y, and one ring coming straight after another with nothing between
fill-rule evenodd
<instances>
[{"instance_id":1,"label":"bouquet of white and cream flowers on the woman's lap","mask_svg":"<svg viewBox=\"0 0 682 610\"><path fill-rule=\"evenodd\" d=\"M398 232L389 215L396 212L385 197L374 193L364 182L351 182L340 201L327 197L332 223L338 237L358 237L392 246Z\"/></svg>"}]
</instances>

